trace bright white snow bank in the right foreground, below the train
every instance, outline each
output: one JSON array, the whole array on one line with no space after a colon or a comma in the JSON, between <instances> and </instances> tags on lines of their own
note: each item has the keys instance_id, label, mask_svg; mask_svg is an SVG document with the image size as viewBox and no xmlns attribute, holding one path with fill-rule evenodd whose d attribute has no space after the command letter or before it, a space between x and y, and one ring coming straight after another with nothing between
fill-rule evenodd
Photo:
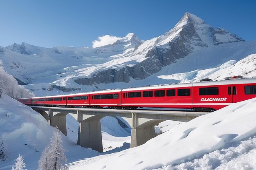
<instances>
[{"instance_id":1,"label":"bright white snow bank in the right foreground, below the train","mask_svg":"<svg viewBox=\"0 0 256 170\"><path fill-rule=\"evenodd\" d=\"M86 166L73 169L71 166L70 169L171 170L171 166L186 163L194 159L201 159L203 157L210 159L211 153L208 156L204 156L204 154L214 152L215 150L217 151L213 154L219 155L215 160L221 161L220 157L228 157L228 155L224 156L224 151L221 150L223 148L232 150L231 152L233 153L229 155L230 157L236 155L236 152L248 152L247 154L254 155L255 157L255 150L251 150L255 148L255 144L251 144L252 147L245 148L244 146L247 146L246 141L240 142L256 134L255 119L256 98L231 104L221 110L200 116L187 123L179 124L176 128L150 139L142 146L124 150ZM250 142L255 143L255 139ZM229 146L238 143L241 146L238 145L237 147L229 148ZM228 150L225 152L229 154ZM226 163L226 166L230 167L228 170L234 166L232 164L228 165L229 162L230 159L223 161L223 163ZM189 163L186 166L189 166ZM221 166L225 165L221 164ZM250 166L252 167L252 165ZM238 165L237 167L239 169L243 165Z\"/></svg>"}]
</instances>

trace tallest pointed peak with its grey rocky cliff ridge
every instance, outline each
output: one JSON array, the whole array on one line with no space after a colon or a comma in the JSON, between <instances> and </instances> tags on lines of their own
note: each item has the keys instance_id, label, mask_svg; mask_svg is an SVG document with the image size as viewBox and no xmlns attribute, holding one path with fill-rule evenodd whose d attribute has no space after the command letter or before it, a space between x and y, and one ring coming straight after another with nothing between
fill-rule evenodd
<instances>
[{"instance_id":1,"label":"tallest pointed peak with its grey rocky cliff ridge","mask_svg":"<svg viewBox=\"0 0 256 170\"><path fill-rule=\"evenodd\" d=\"M144 79L159 72L164 66L177 62L198 47L208 47L230 42L244 41L236 34L231 34L224 29L214 30L204 20L186 13L173 29L162 36L148 41L138 41L137 37L132 44L132 53L126 56L144 55L144 60L133 66L124 66L122 69L98 71L90 78L78 78L74 82L83 85L94 83L129 82L133 79ZM112 46L120 44L117 40ZM137 44L136 44L137 43ZM123 56L124 57L124 56Z\"/></svg>"}]
</instances>

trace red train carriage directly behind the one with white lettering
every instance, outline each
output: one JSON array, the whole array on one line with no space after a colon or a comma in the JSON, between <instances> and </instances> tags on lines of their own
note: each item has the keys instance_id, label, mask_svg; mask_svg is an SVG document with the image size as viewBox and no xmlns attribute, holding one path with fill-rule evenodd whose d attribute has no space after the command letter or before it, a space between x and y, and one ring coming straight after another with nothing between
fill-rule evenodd
<instances>
[{"instance_id":1,"label":"red train carriage directly behind the one with white lettering","mask_svg":"<svg viewBox=\"0 0 256 170\"><path fill-rule=\"evenodd\" d=\"M192 108L192 84L158 85L122 90L124 108Z\"/></svg>"}]
</instances>

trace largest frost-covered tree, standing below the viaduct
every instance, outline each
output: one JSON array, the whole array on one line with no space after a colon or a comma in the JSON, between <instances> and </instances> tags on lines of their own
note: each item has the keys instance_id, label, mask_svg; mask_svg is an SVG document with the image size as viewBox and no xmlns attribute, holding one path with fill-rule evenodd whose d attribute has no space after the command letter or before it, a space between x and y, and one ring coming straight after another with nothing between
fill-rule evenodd
<instances>
[{"instance_id":1,"label":"largest frost-covered tree, standing below the viaduct","mask_svg":"<svg viewBox=\"0 0 256 170\"><path fill-rule=\"evenodd\" d=\"M51 141L43 150L38 161L38 170L67 170L65 163L67 158L64 152L67 152L62 146L61 133L57 129L54 131Z\"/></svg>"}]
</instances>

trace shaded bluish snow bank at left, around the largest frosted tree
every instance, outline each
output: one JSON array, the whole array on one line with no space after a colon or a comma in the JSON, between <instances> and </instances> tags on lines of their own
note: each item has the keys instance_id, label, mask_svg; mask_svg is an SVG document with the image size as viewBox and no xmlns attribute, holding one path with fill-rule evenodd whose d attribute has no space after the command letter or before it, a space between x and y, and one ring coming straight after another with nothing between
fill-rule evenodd
<instances>
[{"instance_id":1,"label":"shaded bluish snow bank at left, around the largest frosted tree","mask_svg":"<svg viewBox=\"0 0 256 170\"><path fill-rule=\"evenodd\" d=\"M41 152L49 144L54 127L28 106L2 94L0 97L0 139L7 144L6 161L0 160L0 170L10 170L15 159L24 157L26 168L36 170ZM63 146L70 161L99 155L90 148L82 148L62 134ZM2 142L2 141L1 141ZM78 154L79 153L79 154Z\"/></svg>"}]
</instances>

